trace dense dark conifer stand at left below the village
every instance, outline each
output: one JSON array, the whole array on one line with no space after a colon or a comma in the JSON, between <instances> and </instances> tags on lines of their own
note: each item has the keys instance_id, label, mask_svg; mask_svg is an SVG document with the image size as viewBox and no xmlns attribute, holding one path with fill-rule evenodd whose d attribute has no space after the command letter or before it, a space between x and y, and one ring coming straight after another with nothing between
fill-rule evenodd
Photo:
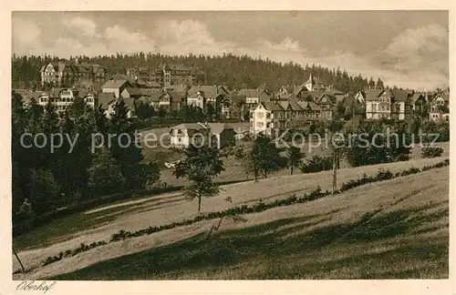
<instances>
[{"instance_id":1,"label":"dense dark conifer stand at left below the village","mask_svg":"<svg viewBox=\"0 0 456 295\"><path fill-rule=\"evenodd\" d=\"M155 163L143 162L134 140L122 102L110 119L82 99L59 117L51 104L40 107L32 101L24 107L23 98L13 92L14 220L155 182L160 171Z\"/></svg>"}]
</instances>

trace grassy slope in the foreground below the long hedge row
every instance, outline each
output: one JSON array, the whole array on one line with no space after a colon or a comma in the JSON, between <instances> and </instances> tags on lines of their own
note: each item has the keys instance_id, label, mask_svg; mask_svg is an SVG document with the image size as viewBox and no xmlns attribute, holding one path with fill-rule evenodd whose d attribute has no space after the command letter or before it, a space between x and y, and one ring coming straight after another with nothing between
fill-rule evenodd
<instances>
[{"instance_id":1,"label":"grassy slope in the foreground below the long hedge row","mask_svg":"<svg viewBox=\"0 0 456 295\"><path fill-rule=\"evenodd\" d=\"M448 185L448 168L372 184L247 215L242 223L227 221L209 241L203 239L207 225L200 225L187 229L192 237L175 237L174 243L118 258L107 259L105 253L101 262L57 276L43 273L43 279L448 278ZM167 235L180 233L170 230ZM146 241L137 238L128 247L122 243L114 247L132 252ZM83 256L79 259L103 255ZM66 266L72 262L62 261Z\"/></svg>"}]
</instances>

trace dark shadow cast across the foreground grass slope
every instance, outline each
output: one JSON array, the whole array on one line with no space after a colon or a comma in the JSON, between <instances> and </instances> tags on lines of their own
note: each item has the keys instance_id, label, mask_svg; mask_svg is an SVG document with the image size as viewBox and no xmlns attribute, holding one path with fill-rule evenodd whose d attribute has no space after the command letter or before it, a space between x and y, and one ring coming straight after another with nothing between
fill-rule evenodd
<instances>
[{"instance_id":1,"label":"dark shadow cast across the foreground grass slope","mask_svg":"<svg viewBox=\"0 0 456 295\"><path fill-rule=\"evenodd\" d=\"M350 274L350 279L363 279L368 277L369 273L378 273L375 266L380 262L395 263L395 261L401 260L407 264L426 259L441 260L446 258L448 260L448 237L441 239L435 247L428 244L430 242L425 244L415 242L413 245L399 244L395 249L377 254L359 253L354 257L333 259L326 262L318 260L318 256L313 256L312 253L318 251L321 258L322 251L328 247L326 252L330 257L329 247L331 249L337 247L344 252L344 249L350 249L354 245L369 245L369 243L382 239L413 235L420 225L439 220L448 215L448 209L426 214L423 212L423 210L430 208L432 206L389 213L374 211L365 214L355 222L327 225L310 230L305 229L321 223L322 219L330 218L331 215L279 219L246 229L215 232L212 239L209 240L205 240L205 233L202 233L192 239L185 239L171 245L126 255L118 259L98 262L88 268L51 279L160 280L166 278L169 280L170 278L180 279L192 274L192 278L197 280L198 274L204 273L206 270L221 272L249 261L264 261L264 265L273 266L270 271L249 274L248 279L251 280L291 280L315 277L337 279L330 278L327 272L347 267L352 269L367 268L367 272L361 271L357 274ZM297 232L297 234L290 236L291 232ZM296 255L299 259L296 259ZM293 259L290 259L291 257ZM441 266L442 262L439 263L440 268L445 267L446 269L433 270L432 273L437 275L448 273L448 264ZM283 269L284 267L286 268ZM242 270L239 271L234 272L232 278L225 279L239 279ZM401 274L400 271L404 272ZM417 269L409 272L407 270L391 270L390 274L387 272L378 275L390 276L390 279L395 279L396 276L400 278L420 273L422 272Z\"/></svg>"}]
</instances>

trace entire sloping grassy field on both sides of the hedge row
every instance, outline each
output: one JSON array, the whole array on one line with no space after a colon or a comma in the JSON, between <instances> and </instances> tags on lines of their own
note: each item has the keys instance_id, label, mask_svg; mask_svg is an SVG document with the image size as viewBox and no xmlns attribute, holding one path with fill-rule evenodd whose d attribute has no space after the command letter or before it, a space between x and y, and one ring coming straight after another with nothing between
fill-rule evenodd
<instances>
[{"instance_id":1,"label":"entire sloping grassy field on both sides of the hedge row","mask_svg":"<svg viewBox=\"0 0 456 295\"><path fill-rule=\"evenodd\" d=\"M379 167L395 172L440 160L341 169L339 183L375 174ZM60 219L60 230L56 224L36 229L28 239L15 239L26 268L34 269L15 275L15 280L443 278L448 276L448 174L448 168L440 168L251 214L246 222L226 220L209 242L202 235L216 223L213 220L111 243L39 267L41 259L81 242L196 213L195 201L179 193L118 203ZM330 172L224 186L220 196L203 199L202 209L285 198L316 185L330 188ZM224 200L227 196L233 203ZM98 227L93 220L100 220ZM72 233L65 232L69 224L75 228ZM66 272L71 273L60 276Z\"/></svg>"}]
</instances>

